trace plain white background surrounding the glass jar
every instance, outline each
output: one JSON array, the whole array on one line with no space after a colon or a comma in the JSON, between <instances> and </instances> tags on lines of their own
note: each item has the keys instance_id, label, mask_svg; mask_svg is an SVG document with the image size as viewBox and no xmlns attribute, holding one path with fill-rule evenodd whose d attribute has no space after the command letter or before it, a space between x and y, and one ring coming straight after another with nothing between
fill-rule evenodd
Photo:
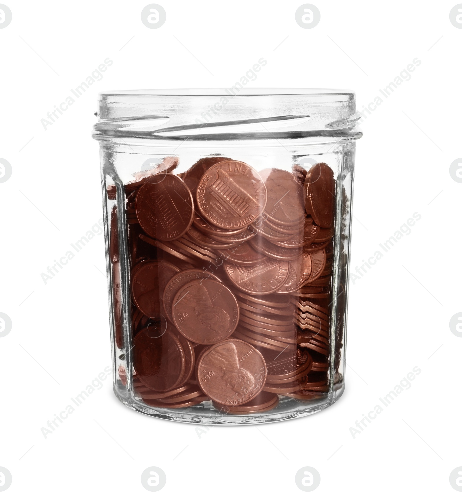
<instances>
[{"instance_id":1,"label":"plain white background surrounding the glass jar","mask_svg":"<svg viewBox=\"0 0 462 496\"><path fill-rule=\"evenodd\" d=\"M321 21L302 29L301 1L159 0L167 22L148 29L147 1L5 1L0 29L0 466L5 494L285 494L303 466L314 494L456 494L462 465L461 37L451 1L313 0ZM54 110L106 58L114 63L59 120ZM255 87L348 88L367 106L414 58L421 61L364 120L357 142L352 270L414 212L412 232L350 285L346 391L332 407L257 428L156 420L119 403L110 378L47 438L41 433L110 365L103 236L47 284L41 273L102 217L98 144L103 90L229 87L264 57ZM200 62L199 62L200 61ZM415 366L420 375L355 438L349 432Z\"/></svg>"}]
</instances>

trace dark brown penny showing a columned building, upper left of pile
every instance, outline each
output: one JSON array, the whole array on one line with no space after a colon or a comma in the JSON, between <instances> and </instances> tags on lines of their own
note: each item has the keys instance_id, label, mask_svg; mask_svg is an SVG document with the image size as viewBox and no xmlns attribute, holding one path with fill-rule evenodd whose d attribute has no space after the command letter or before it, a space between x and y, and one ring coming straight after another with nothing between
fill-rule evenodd
<instances>
[{"instance_id":1,"label":"dark brown penny showing a columned building, upper left of pile","mask_svg":"<svg viewBox=\"0 0 462 496\"><path fill-rule=\"evenodd\" d=\"M136 195L135 209L146 234L161 241L180 238L191 226L194 213L191 192L174 174L146 181Z\"/></svg>"}]
</instances>

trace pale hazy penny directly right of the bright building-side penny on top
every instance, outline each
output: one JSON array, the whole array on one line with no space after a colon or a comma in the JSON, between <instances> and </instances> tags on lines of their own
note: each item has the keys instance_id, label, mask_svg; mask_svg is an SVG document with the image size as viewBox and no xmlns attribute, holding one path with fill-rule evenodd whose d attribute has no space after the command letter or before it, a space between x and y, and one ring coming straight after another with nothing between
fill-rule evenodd
<instances>
[{"instance_id":1,"label":"pale hazy penny directly right of the bright building-side penny on top","mask_svg":"<svg viewBox=\"0 0 462 496\"><path fill-rule=\"evenodd\" d=\"M259 174L266 186L268 218L276 224L299 224L305 218L302 186L281 169L264 169Z\"/></svg>"}]
</instances>

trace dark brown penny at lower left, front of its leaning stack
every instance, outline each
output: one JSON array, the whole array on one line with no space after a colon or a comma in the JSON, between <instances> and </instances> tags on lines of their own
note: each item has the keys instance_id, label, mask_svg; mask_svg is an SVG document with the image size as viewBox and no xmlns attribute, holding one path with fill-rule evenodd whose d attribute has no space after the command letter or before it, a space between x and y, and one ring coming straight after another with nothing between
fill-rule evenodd
<instances>
[{"instance_id":1,"label":"dark brown penny at lower left, front of its leaning stack","mask_svg":"<svg viewBox=\"0 0 462 496\"><path fill-rule=\"evenodd\" d=\"M160 335L148 329L133 339L133 367L140 381L154 391L176 387L184 374L184 353L168 329Z\"/></svg>"}]
</instances>

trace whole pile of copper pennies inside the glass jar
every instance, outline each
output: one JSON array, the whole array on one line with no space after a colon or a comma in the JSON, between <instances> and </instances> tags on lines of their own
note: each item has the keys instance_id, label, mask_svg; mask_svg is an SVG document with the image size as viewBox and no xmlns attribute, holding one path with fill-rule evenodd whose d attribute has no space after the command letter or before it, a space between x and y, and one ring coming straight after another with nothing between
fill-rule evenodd
<instances>
[{"instance_id":1,"label":"whole pile of copper pennies inside the glass jar","mask_svg":"<svg viewBox=\"0 0 462 496\"><path fill-rule=\"evenodd\" d=\"M227 414L329 390L335 179L176 157L124 185L133 387L151 407L203 401ZM116 199L116 186L108 186ZM123 231L122 231L123 232ZM111 214L116 346L124 349L117 209ZM123 357L123 354L122 354ZM122 383L125 369L119 367Z\"/></svg>"}]
</instances>

